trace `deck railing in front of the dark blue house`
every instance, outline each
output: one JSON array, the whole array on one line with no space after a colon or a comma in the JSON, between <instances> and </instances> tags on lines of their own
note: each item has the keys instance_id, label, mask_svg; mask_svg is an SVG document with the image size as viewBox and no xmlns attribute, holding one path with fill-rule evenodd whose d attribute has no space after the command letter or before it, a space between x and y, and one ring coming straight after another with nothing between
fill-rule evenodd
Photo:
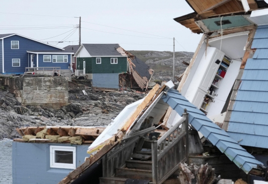
<instances>
[{"instance_id":1,"label":"deck railing in front of the dark blue house","mask_svg":"<svg viewBox=\"0 0 268 184\"><path fill-rule=\"evenodd\" d=\"M54 76L57 73L58 76L61 75L61 67L25 67L24 74L43 74Z\"/></svg>"}]
</instances>

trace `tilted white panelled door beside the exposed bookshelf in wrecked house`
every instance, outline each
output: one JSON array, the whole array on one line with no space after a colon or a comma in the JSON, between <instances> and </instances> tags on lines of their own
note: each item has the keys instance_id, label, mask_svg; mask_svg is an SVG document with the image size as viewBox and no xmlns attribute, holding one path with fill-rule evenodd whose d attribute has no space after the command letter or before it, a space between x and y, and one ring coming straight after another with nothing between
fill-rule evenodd
<instances>
[{"instance_id":1,"label":"tilted white panelled door beside the exposed bookshelf in wrecked house","mask_svg":"<svg viewBox=\"0 0 268 184\"><path fill-rule=\"evenodd\" d=\"M213 79L214 79L214 76L220 66L220 62L222 61L224 57L224 53L220 52L218 49L215 50L215 53L212 57L212 60L210 61L207 69L206 69L206 72L203 76L203 79L201 81L201 84L199 86L199 88L205 92L207 92L207 90L209 89ZM217 62L217 60L219 60Z\"/></svg>"}]
</instances>

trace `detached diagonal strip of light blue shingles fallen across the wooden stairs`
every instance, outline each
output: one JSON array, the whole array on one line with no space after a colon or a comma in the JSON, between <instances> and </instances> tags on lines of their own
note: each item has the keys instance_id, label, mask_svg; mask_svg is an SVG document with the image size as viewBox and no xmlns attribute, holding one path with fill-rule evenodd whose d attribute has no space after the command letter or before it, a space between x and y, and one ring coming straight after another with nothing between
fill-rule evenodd
<instances>
[{"instance_id":1,"label":"detached diagonal strip of light blue shingles fallen across the wooden stairs","mask_svg":"<svg viewBox=\"0 0 268 184\"><path fill-rule=\"evenodd\" d=\"M184 109L187 109L189 113L189 123L246 174L250 173L252 169L263 166L261 162L242 148L227 132L209 120L177 90L168 90L166 95L163 95L162 99L180 116L184 113Z\"/></svg>"}]
</instances>

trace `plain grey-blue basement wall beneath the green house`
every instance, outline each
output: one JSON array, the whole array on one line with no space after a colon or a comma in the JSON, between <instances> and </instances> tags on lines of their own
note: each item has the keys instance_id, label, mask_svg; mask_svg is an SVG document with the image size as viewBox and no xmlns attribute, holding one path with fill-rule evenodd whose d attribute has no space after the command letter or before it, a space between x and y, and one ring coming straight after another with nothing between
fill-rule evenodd
<instances>
[{"instance_id":1,"label":"plain grey-blue basement wall beneath the green house","mask_svg":"<svg viewBox=\"0 0 268 184\"><path fill-rule=\"evenodd\" d=\"M92 86L101 88L119 88L118 73L93 73Z\"/></svg>"}]
</instances>

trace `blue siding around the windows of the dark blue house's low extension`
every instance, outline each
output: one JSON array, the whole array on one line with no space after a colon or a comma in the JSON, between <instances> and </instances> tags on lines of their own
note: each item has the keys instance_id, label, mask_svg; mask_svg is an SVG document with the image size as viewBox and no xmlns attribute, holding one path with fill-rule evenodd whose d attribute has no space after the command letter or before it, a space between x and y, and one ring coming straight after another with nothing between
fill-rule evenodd
<instances>
[{"instance_id":1,"label":"blue siding around the windows of the dark blue house's low extension","mask_svg":"<svg viewBox=\"0 0 268 184\"><path fill-rule=\"evenodd\" d=\"M44 62L44 55L50 55L50 54L38 54L38 67L61 67L61 69L69 69L70 66L70 54L54 54L54 55L67 55L68 56L68 62L52 62L52 56L51 56L51 62Z\"/></svg>"}]
</instances>

